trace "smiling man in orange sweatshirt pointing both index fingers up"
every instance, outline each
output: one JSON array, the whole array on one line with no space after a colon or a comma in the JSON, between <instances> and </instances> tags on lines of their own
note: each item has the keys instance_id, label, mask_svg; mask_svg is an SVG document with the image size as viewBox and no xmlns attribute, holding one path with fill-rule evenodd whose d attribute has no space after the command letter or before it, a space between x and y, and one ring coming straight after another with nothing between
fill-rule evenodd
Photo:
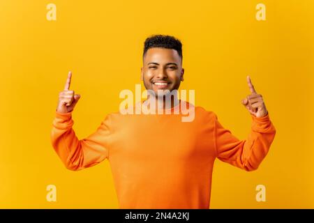
<instances>
[{"instance_id":1,"label":"smiling man in orange sweatshirt pointing both index fingers up","mask_svg":"<svg viewBox=\"0 0 314 223\"><path fill-rule=\"evenodd\" d=\"M66 86L59 93L53 121L52 146L70 170L110 162L119 208L209 208L214 160L253 171L267 155L276 130L262 95L247 77L248 95L242 104L251 118L251 132L239 140L223 128L214 112L177 100L162 109L179 114L107 114L98 129L77 139L72 112L80 95ZM172 36L151 36L144 43L141 79L149 97L165 102L184 79L181 43ZM141 102L143 105L151 100ZM185 103L186 106L180 106ZM182 122L193 107L195 118Z\"/></svg>"}]
</instances>

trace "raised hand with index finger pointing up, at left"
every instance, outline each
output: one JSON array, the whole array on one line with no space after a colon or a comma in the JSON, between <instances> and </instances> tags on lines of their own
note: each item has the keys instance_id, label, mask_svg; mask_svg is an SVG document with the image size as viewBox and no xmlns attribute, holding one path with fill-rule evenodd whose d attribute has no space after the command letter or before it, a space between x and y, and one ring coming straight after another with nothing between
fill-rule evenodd
<instances>
[{"instance_id":1,"label":"raised hand with index finger pointing up, at left","mask_svg":"<svg viewBox=\"0 0 314 223\"><path fill-rule=\"evenodd\" d=\"M66 80L66 86L64 90L59 93L59 102L57 112L68 113L72 112L76 103L80 99L81 95L75 95L74 91L70 91L72 72L68 72L68 79Z\"/></svg>"}]
</instances>

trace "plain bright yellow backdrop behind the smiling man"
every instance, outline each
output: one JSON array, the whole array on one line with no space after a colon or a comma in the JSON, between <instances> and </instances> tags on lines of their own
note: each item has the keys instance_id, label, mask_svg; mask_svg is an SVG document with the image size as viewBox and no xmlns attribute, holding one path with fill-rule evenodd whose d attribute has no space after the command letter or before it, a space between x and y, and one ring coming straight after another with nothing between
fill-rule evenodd
<instances>
[{"instance_id":1,"label":"plain bright yellow backdrop behind the smiling man","mask_svg":"<svg viewBox=\"0 0 314 223\"><path fill-rule=\"evenodd\" d=\"M57 21L46 19L48 3ZM255 19L257 3L266 21ZM109 162L66 169L52 120L72 70L75 132L94 132L118 111L119 92L135 91L144 40L156 33L182 41L181 89L195 89L196 105L245 139L251 75L277 130L257 171L215 162L211 208L314 208L313 22L312 0L0 1L0 208L118 208ZM57 202L46 201L49 184ZM255 200L259 184L266 202Z\"/></svg>"}]
</instances>

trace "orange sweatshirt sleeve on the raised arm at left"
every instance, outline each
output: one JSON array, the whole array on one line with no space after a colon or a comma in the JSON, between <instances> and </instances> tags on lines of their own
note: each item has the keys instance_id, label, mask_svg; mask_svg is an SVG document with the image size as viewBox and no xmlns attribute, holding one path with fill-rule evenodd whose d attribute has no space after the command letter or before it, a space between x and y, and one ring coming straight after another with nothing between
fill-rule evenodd
<instances>
[{"instance_id":1,"label":"orange sweatshirt sleeve on the raised arm at left","mask_svg":"<svg viewBox=\"0 0 314 223\"><path fill-rule=\"evenodd\" d=\"M106 116L98 129L85 139L77 139L73 130L72 112L61 114L56 111L52 123L51 142L67 169L77 171L102 162L108 157L110 118Z\"/></svg>"}]
</instances>

